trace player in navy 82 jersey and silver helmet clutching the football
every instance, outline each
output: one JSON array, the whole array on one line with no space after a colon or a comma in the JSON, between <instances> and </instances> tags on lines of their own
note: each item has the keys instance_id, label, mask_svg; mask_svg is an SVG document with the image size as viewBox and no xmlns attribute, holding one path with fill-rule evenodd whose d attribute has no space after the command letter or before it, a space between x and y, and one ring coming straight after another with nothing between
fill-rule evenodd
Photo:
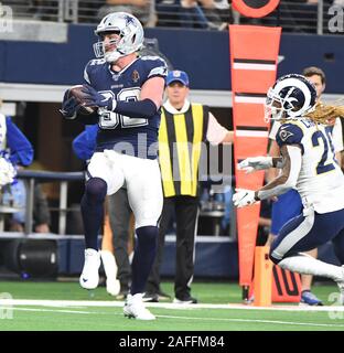
<instances>
[{"instance_id":1,"label":"player in navy 82 jersey and silver helmet clutching the football","mask_svg":"<svg viewBox=\"0 0 344 353\"><path fill-rule=\"evenodd\" d=\"M80 97L68 89L61 110L65 118L99 125L80 203L86 249L79 281L86 289L98 286L97 238L104 200L125 185L136 218L137 242L123 312L129 318L154 320L143 306L142 293L155 257L163 202L157 151L166 65L159 56L138 56L143 29L131 14L110 13L95 32L98 58L85 67ZM86 115L85 109L93 113Z\"/></svg>"}]
</instances>

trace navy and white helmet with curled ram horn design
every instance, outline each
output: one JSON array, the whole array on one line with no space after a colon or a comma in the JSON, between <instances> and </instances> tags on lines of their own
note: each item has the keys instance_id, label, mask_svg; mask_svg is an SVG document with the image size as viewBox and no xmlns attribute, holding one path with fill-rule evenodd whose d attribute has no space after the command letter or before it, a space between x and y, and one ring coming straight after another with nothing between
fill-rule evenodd
<instances>
[{"instance_id":1,"label":"navy and white helmet with curled ram horn design","mask_svg":"<svg viewBox=\"0 0 344 353\"><path fill-rule=\"evenodd\" d=\"M312 111L315 103L316 90L311 82L302 75L286 75L268 90L265 119L299 119Z\"/></svg>"}]
</instances>

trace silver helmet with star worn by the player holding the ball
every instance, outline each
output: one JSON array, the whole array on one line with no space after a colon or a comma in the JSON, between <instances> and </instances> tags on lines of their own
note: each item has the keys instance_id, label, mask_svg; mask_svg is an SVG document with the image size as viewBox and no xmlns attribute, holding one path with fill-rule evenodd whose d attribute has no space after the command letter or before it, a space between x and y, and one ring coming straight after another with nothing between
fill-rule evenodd
<instances>
[{"instance_id":1,"label":"silver helmet with star worn by the player holding the ball","mask_svg":"<svg viewBox=\"0 0 344 353\"><path fill-rule=\"evenodd\" d=\"M140 21L130 13L112 12L107 14L98 24L95 33L99 41L94 44L96 57L104 57L108 63L115 63L119 57L139 51L143 44L143 28ZM111 40L107 46L114 44L114 50L105 49L104 34L117 33L118 40Z\"/></svg>"}]
</instances>

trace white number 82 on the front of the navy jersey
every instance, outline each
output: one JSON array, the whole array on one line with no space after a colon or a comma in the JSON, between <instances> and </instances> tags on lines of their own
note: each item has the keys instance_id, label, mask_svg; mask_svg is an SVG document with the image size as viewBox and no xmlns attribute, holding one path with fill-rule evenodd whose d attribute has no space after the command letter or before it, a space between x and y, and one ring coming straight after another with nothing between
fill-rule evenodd
<instances>
[{"instance_id":1,"label":"white number 82 on the front of the navy jersey","mask_svg":"<svg viewBox=\"0 0 344 353\"><path fill-rule=\"evenodd\" d=\"M106 98L115 98L115 95L111 90L100 92ZM116 97L117 100L122 101L137 101L140 97L139 88L123 88L120 90ZM136 128L140 126L148 125L148 119L146 118L130 118L118 113L112 113L108 110L100 110L99 127L101 129L116 129L119 125L122 129L126 128Z\"/></svg>"}]
</instances>

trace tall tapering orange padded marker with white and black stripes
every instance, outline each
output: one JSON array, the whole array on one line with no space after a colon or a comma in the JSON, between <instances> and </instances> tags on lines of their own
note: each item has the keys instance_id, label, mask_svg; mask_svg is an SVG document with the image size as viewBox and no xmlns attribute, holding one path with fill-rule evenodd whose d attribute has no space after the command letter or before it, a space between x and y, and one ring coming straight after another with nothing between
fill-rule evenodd
<instances>
[{"instance_id":1,"label":"tall tapering orange padded marker with white and black stripes","mask_svg":"<svg viewBox=\"0 0 344 353\"><path fill-rule=\"evenodd\" d=\"M236 188L262 186L264 171L247 175L237 163L265 156L269 124L264 119L267 90L276 81L281 28L229 25ZM252 285L260 204L237 210L239 285Z\"/></svg>"}]
</instances>

